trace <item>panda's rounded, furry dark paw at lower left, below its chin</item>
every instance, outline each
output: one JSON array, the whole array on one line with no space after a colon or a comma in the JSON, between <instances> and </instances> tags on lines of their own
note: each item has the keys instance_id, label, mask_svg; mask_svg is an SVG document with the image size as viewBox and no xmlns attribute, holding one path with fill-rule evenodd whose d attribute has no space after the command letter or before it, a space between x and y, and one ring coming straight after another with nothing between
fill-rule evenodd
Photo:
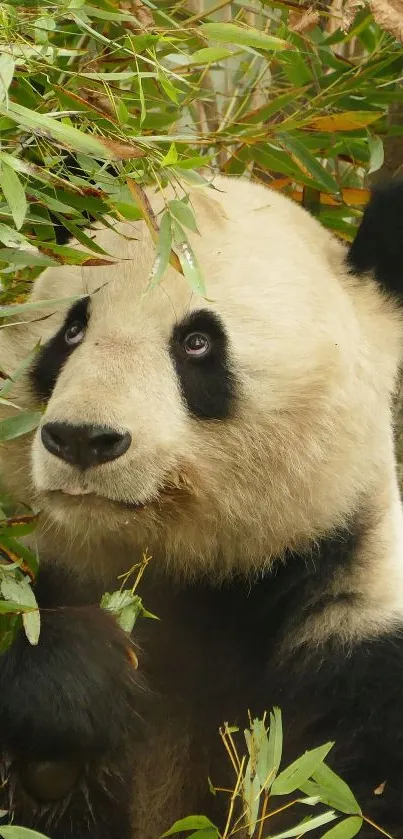
<instances>
[{"instance_id":1,"label":"panda's rounded, furry dark paw at lower left, below its chin","mask_svg":"<svg viewBox=\"0 0 403 839\"><path fill-rule=\"evenodd\" d=\"M21 633L0 657L0 746L27 759L96 758L140 726L144 688L130 638L97 606L41 612L41 636Z\"/></svg>"}]
</instances>

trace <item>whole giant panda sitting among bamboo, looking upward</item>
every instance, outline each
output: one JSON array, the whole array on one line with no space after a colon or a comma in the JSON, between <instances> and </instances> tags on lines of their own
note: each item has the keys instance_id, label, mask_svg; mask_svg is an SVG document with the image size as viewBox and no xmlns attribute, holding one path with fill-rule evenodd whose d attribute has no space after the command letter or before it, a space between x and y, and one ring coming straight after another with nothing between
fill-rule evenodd
<instances>
[{"instance_id":1,"label":"whole giant panda sitting among bamboo, looking upward","mask_svg":"<svg viewBox=\"0 0 403 839\"><path fill-rule=\"evenodd\" d=\"M157 217L173 195L148 191ZM247 180L190 201L205 296L171 267L150 288L146 224L111 222L110 265L47 269L32 301L70 302L1 330L10 371L40 342L13 401L43 414L1 447L41 510L42 630L0 658L0 806L51 839L222 828L219 726L278 705L284 759L335 741L329 764L397 839L403 188L374 195L350 249ZM131 640L99 603L145 551L159 620Z\"/></svg>"}]
</instances>

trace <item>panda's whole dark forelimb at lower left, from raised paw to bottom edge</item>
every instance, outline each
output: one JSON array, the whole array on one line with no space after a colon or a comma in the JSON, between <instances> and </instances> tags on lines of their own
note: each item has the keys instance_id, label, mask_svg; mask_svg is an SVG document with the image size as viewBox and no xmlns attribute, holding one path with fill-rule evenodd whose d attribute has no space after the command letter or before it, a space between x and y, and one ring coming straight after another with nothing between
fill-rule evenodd
<instances>
[{"instance_id":1,"label":"panda's whole dark forelimb at lower left, from raised paw to bottom edge","mask_svg":"<svg viewBox=\"0 0 403 839\"><path fill-rule=\"evenodd\" d=\"M71 594L62 568L44 566L36 594L39 644L21 632L0 657L0 775L9 778L0 807L45 833L40 813L50 807L52 839L128 839L145 697L130 639Z\"/></svg>"}]
</instances>

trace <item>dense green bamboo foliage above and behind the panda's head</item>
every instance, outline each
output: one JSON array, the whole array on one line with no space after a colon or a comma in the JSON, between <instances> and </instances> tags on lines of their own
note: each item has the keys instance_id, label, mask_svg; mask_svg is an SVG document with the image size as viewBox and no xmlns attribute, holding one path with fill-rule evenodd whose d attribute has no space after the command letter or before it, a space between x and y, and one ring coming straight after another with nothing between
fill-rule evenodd
<instances>
[{"instance_id":1,"label":"dense green bamboo foliage above and behind the panda's head","mask_svg":"<svg viewBox=\"0 0 403 839\"><path fill-rule=\"evenodd\" d=\"M47 264L107 258L85 232L87 214L144 215L135 187L145 182L170 181L178 194L155 230L153 281L173 246L203 291L185 232L187 184L203 183L202 166L269 180L352 235L363 174L381 165L385 134L401 131L387 121L401 95L401 48L365 9L344 32L329 16L304 28L304 7L289 0L209 5L194 15L167 0L2 4L5 300ZM57 245L61 220L85 253Z\"/></svg>"}]
</instances>

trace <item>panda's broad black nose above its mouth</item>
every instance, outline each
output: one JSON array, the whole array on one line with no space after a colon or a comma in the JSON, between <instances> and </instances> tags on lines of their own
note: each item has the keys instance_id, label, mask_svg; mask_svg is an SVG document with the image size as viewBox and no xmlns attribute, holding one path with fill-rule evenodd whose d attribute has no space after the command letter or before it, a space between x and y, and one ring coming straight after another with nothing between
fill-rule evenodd
<instances>
[{"instance_id":1,"label":"panda's broad black nose above its mouth","mask_svg":"<svg viewBox=\"0 0 403 839\"><path fill-rule=\"evenodd\" d=\"M46 423L41 437L48 452L81 469L116 460L127 452L132 441L129 431L66 422Z\"/></svg>"}]
</instances>

